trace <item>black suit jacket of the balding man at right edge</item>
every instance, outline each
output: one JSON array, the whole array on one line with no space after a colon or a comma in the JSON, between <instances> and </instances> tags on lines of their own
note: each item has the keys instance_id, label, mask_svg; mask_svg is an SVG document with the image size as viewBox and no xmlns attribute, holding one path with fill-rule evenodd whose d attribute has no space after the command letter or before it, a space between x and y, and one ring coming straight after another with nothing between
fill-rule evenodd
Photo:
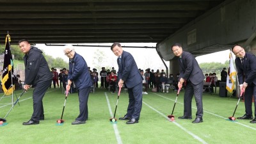
<instances>
[{"instance_id":1,"label":"black suit jacket of the balding man at right edge","mask_svg":"<svg viewBox=\"0 0 256 144\"><path fill-rule=\"evenodd\" d=\"M235 60L239 84L256 84L256 57L248 52L244 55L243 65L240 58Z\"/></svg>"}]
</instances>

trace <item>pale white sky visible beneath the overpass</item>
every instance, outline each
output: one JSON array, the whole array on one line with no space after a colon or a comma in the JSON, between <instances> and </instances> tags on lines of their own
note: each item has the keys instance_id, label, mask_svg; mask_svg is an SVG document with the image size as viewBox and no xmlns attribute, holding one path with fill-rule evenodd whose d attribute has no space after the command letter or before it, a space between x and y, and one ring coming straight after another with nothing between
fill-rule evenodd
<instances>
[{"instance_id":1,"label":"pale white sky visible beneath the overpass","mask_svg":"<svg viewBox=\"0 0 256 144\"><path fill-rule=\"evenodd\" d=\"M102 67L110 66L118 68L116 63L117 57L110 50L111 44L86 44L86 45L109 45L109 47L74 47L75 51L83 56L84 60L88 67L93 68L93 57L97 51L102 51L105 54L106 61L102 63ZM148 46L148 47L156 47L156 44L153 43L137 43L137 44L121 44L122 46ZM68 62L67 56L64 55L63 46L46 46L45 44L36 44L36 47L42 49L45 54L52 56L53 58L63 58L63 60ZM156 69L166 69L164 67L161 58L159 58L156 49L144 49L144 48L126 48L123 47L124 51L130 52L136 61L138 68L145 70L146 68L151 68L156 71ZM196 57L198 63L210 63L210 62L220 62L225 63L228 60L227 51L214 52L212 54L206 54L204 56ZM165 61L166 65L169 66L168 61Z\"/></svg>"}]
</instances>

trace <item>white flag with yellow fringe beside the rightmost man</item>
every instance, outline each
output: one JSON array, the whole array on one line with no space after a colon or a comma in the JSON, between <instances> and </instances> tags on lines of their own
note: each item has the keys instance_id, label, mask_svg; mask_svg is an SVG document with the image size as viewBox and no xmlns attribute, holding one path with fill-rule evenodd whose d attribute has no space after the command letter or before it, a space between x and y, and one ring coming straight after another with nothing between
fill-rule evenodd
<instances>
[{"instance_id":1,"label":"white flag with yellow fringe beside the rightmost man","mask_svg":"<svg viewBox=\"0 0 256 144\"><path fill-rule=\"evenodd\" d=\"M232 93L234 88L235 88L235 79L236 79L236 70L234 67L234 61L233 61L233 56L229 54L229 68L228 68L228 76L227 76L227 85L226 89L228 92Z\"/></svg>"}]
</instances>

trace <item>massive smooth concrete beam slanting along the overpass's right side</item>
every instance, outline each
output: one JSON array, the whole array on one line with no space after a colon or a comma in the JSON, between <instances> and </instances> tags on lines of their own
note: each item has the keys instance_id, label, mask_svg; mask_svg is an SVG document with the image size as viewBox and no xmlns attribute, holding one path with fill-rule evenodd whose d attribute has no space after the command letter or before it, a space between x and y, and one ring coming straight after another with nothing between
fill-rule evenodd
<instances>
[{"instance_id":1,"label":"massive smooth concrete beam slanting along the overpass's right side","mask_svg":"<svg viewBox=\"0 0 256 144\"><path fill-rule=\"evenodd\" d=\"M256 1L225 1L159 42L157 51L163 60L170 60L173 68L170 72L174 74L179 68L175 68L177 59L170 46L175 42L194 56L224 51L234 44L243 45L246 51L256 54L255 8Z\"/></svg>"}]
</instances>

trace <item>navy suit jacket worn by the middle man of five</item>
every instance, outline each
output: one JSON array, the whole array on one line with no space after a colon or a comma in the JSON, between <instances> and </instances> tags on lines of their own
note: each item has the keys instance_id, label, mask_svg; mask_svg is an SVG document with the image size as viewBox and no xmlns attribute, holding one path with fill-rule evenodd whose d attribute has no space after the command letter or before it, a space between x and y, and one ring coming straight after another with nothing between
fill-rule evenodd
<instances>
[{"instance_id":1,"label":"navy suit jacket worn by the middle man of five","mask_svg":"<svg viewBox=\"0 0 256 144\"><path fill-rule=\"evenodd\" d=\"M118 79L124 80L127 88L132 88L137 84L142 84L143 77L141 76L133 56L126 51L123 51L121 63L117 58L118 64Z\"/></svg>"}]
</instances>

